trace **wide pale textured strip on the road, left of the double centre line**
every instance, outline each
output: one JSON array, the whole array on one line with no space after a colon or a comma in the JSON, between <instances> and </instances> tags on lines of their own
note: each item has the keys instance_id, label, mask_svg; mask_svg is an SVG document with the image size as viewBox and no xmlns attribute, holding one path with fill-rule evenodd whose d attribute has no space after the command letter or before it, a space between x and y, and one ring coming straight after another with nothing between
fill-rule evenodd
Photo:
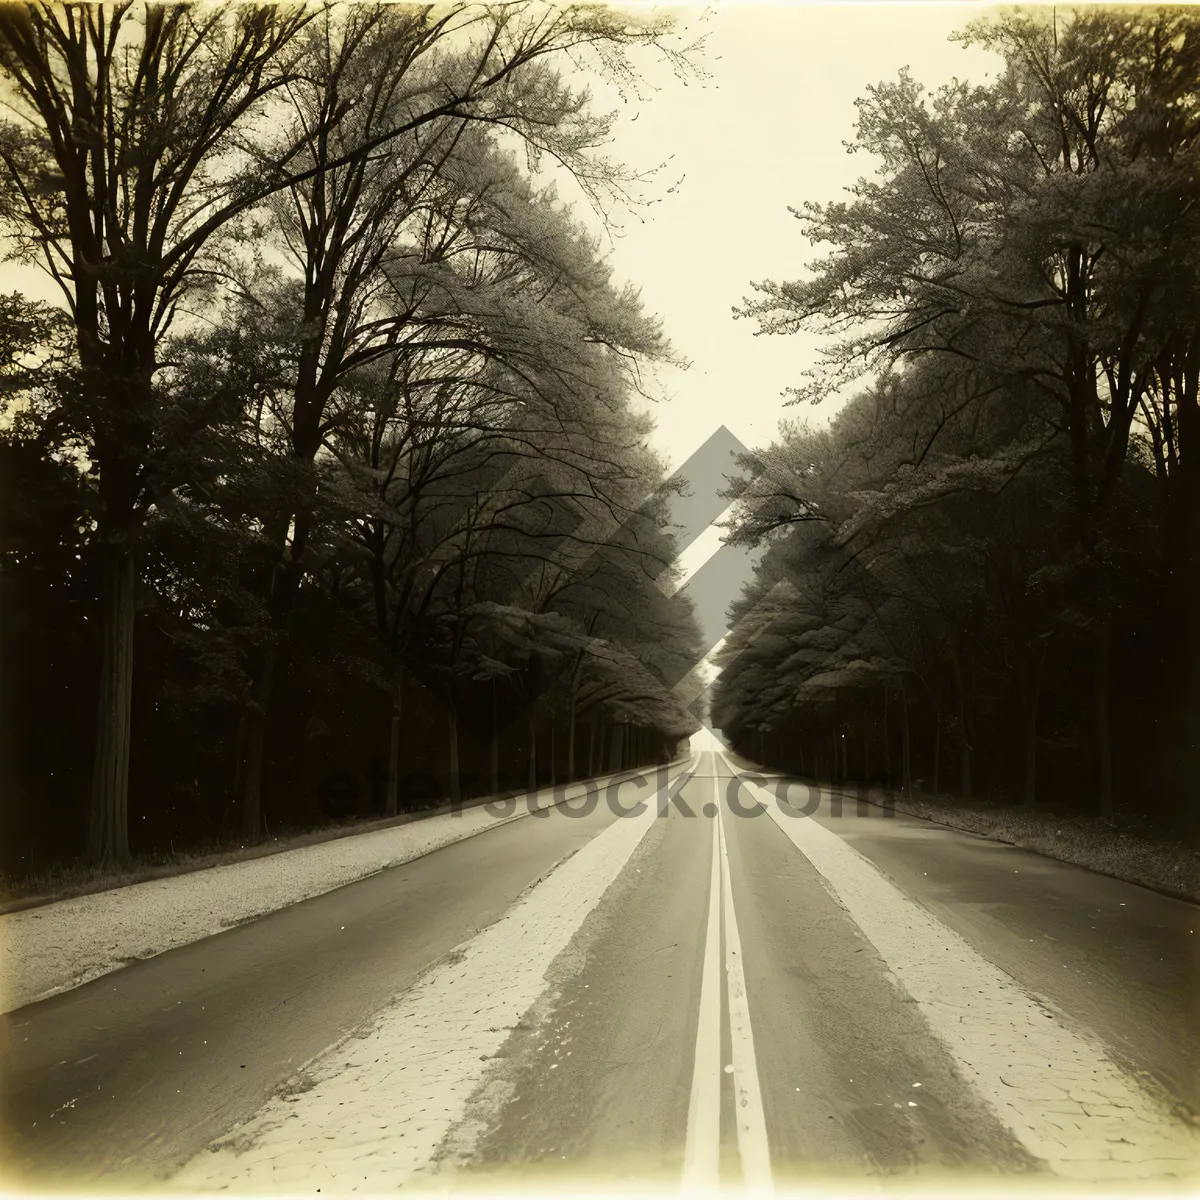
<instances>
[{"instance_id":1,"label":"wide pale textured strip on the road, left of the double centre line","mask_svg":"<svg viewBox=\"0 0 1200 1200\"><path fill-rule=\"evenodd\" d=\"M544 994L550 965L656 818L652 793L640 815L596 834L373 1027L319 1056L307 1091L269 1100L202 1151L175 1187L371 1193L431 1178L434 1153L463 1120L487 1061Z\"/></svg>"}]
</instances>

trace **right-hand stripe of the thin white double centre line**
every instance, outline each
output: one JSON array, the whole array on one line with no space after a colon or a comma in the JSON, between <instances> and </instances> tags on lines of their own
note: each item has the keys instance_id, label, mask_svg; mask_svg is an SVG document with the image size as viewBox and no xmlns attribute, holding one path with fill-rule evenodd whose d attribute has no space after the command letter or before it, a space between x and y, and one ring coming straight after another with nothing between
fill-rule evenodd
<instances>
[{"instance_id":1,"label":"right-hand stripe of the thin white double centre line","mask_svg":"<svg viewBox=\"0 0 1200 1200\"><path fill-rule=\"evenodd\" d=\"M742 967L742 938L733 910L733 889L730 883L730 850L725 841L721 820L721 793L716 778L716 762L724 756L713 754L713 796L716 800L716 828L721 840L721 875L725 881L725 972L730 997L730 1042L733 1051L733 1096L738 1129L738 1157L746 1192L769 1193L774 1184L770 1176L770 1148L767 1145L767 1120L762 1110L762 1090L758 1085L758 1061L754 1052L750 1030L750 1003L746 979Z\"/></svg>"}]
</instances>

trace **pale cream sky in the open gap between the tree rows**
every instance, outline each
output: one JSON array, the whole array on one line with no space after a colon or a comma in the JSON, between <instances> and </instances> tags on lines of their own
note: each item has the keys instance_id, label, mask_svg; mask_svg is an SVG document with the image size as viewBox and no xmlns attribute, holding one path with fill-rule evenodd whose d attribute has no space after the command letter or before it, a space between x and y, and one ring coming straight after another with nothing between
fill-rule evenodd
<instances>
[{"instance_id":1,"label":"pale cream sky in the open gap between the tree rows","mask_svg":"<svg viewBox=\"0 0 1200 1200\"><path fill-rule=\"evenodd\" d=\"M658 202L624 218L624 235L611 242L618 275L642 288L647 310L692 364L661 372L670 400L653 409L654 440L672 467L722 424L756 446L781 416L828 415L785 408L780 395L803 382L816 341L755 337L754 323L731 310L751 281L793 278L812 257L788 205L842 198L871 172L869 158L844 146L868 85L905 66L928 86L995 73L998 59L948 41L985 11L947 0L721 4L703 17L680 10L688 28L708 31L701 61L712 78L685 88L670 71L655 74L658 95L622 109L612 146L637 167L673 155Z\"/></svg>"}]
</instances>

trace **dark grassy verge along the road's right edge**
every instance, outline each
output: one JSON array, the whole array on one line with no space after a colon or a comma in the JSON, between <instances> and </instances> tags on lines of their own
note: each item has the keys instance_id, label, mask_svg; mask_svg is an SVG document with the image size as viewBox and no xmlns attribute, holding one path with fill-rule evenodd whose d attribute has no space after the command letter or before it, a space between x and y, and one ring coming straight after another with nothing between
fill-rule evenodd
<instances>
[{"instance_id":1,"label":"dark grassy verge along the road's right edge","mask_svg":"<svg viewBox=\"0 0 1200 1200\"><path fill-rule=\"evenodd\" d=\"M1145 818L1126 815L1104 820L1012 804L968 804L954 796L913 792L895 794L893 803L898 812L908 816L1006 841L1200 904L1200 846L1156 833Z\"/></svg>"}]
</instances>

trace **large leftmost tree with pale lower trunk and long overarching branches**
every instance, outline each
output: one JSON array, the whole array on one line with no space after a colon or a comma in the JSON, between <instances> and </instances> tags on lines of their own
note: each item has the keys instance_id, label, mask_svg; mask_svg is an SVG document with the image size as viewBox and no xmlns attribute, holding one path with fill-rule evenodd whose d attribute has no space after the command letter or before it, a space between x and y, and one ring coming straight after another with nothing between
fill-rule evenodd
<instances>
[{"instance_id":1,"label":"large leftmost tree with pale lower trunk and long overarching branches","mask_svg":"<svg viewBox=\"0 0 1200 1200\"><path fill-rule=\"evenodd\" d=\"M522 86L539 91L526 78L541 82L541 100L568 96L542 66L547 56L590 50L628 74L624 47L656 43L667 29L595 8L550 16L524 4L390 8L378 24L390 25L414 86L394 92L398 103L383 127L344 145L340 157L313 161L310 134L325 139L355 108L353 92L323 94L316 122L301 122L290 142L265 131L289 89L304 84L305 40L319 13L130 4L0 13L0 72L17 103L17 120L0 131L4 221L71 311L80 414L97 469L104 559L90 835L97 859L128 853L138 542L148 509L172 486L155 456L160 350L187 296L211 284L214 236L270 197L385 156L397 139L446 118L528 131L541 114L511 104ZM359 19L334 11L325 28ZM458 53L449 58L451 46ZM582 120L576 128L595 132ZM583 132L580 140L589 144ZM541 145L535 134L530 144Z\"/></svg>"}]
</instances>

